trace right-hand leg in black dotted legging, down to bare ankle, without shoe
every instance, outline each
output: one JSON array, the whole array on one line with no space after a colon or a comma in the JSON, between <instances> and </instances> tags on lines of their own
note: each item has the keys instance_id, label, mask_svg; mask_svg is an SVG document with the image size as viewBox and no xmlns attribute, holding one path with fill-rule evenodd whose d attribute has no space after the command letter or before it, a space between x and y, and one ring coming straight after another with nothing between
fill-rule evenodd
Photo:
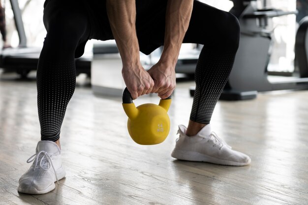
<instances>
[{"instance_id":1,"label":"right-hand leg in black dotted legging, down to bare ankle, without shoe","mask_svg":"<svg viewBox=\"0 0 308 205\"><path fill-rule=\"evenodd\" d=\"M206 19L213 19L206 20ZM184 42L203 44L195 71L196 91L187 135L210 123L216 102L227 82L239 44L239 24L228 12L195 2Z\"/></svg>"}]
</instances>

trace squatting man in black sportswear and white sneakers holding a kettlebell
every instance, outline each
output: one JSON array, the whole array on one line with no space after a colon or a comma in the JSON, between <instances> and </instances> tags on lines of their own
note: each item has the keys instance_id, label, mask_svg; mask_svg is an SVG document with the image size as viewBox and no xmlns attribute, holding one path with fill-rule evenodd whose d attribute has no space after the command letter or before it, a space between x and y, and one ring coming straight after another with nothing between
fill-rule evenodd
<instances>
[{"instance_id":1,"label":"squatting man in black sportswear and white sneakers holding a kettlebell","mask_svg":"<svg viewBox=\"0 0 308 205\"><path fill-rule=\"evenodd\" d=\"M37 68L41 141L27 162L18 191L43 194L65 176L60 129L75 89L74 57L83 54L88 39L115 39L122 75L133 99L157 93L162 99L176 87L175 65L182 42L204 47L196 67L196 91L187 129L172 156L189 161L244 166L250 158L231 149L211 132L210 119L231 71L239 43L239 24L228 12L193 0L46 0L47 35ZM86 8L86 9L85 9ZM160 60L146 71L139 50L150 54L164 45Z\"/></svg>"}]
</instances>

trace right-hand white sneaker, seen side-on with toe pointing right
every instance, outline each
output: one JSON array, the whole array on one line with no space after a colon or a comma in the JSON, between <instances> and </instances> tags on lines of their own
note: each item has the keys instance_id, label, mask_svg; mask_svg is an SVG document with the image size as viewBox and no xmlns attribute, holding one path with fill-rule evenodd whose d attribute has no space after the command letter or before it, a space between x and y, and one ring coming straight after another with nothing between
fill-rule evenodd
<instances>
[{"instance_id":1,"label":"right-hand white sneaker, seen side-on with toe pointing right","mask_svg":"<svg viewBox=\"0 0 308 205\"><path fill-rule=\"evenodd\" d=\"M180 137L171 154L176 159L232 166L250 164L250 158L246 154L232 150L223 139L211 131L210 124L195 136L188 137L185 133L186 127L179 125Z\"/></svg>"}]
</instances>

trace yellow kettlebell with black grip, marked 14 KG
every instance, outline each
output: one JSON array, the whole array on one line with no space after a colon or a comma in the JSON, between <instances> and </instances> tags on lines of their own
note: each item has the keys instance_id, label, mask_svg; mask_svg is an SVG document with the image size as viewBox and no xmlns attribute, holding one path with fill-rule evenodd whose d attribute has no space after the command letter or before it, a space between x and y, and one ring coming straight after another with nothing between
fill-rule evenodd
<instances>
[{"instance_id":1,"label":"yellow kettlebell with black grip, marked 14 KG","mask_svg":"<svg viewBox=\"0 0 308 205\"><path fill-rule=\"evenodd\" d=\"M159 104L146 103L138 107L127 90L123 92L123 108L128 116L127 129L130 137L138 144L152 145L163 142L170 131L170 118L167 113L171 96L160 100Z\"/></svg>"}]
</instances>

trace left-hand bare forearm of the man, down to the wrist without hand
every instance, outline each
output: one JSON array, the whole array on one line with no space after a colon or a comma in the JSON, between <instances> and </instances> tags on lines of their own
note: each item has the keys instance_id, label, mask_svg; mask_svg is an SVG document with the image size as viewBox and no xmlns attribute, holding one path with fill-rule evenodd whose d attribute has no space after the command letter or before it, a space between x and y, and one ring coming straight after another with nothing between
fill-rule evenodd
<instances>
[{"instance_id":1,"label":"left-hand bare forearm of the man, down to the wrist without hand","mask_svg":"<svg viewBox=\"0 0 308 205\"><path fill-rule=\"evenodd\" d=\"M140 64L135 0L107 0L106 7L123 68L135 68Z\"/></svg>"}]
</instances>

